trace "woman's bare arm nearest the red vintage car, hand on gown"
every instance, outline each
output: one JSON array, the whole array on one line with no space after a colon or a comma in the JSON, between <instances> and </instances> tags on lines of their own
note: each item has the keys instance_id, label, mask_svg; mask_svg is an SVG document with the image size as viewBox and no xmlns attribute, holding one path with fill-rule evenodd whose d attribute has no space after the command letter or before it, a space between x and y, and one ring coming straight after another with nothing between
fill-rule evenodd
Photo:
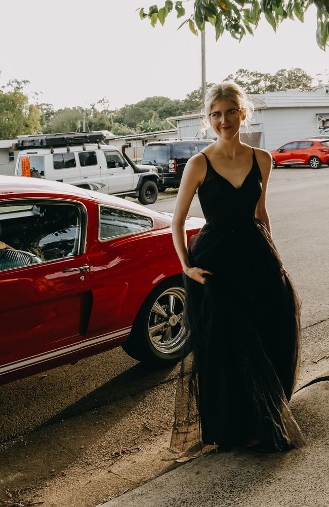
<instances>
[{"instance_id":1,"label":"woman's bare arm nearest the red vintage car, hand on gown","mask_svg":"<svg viewBox=\"0 0 329 507\"><path fill-rule=\"evenodd\" d=\"M182 269L186 275L200 283L205 282L203 273L212 273L197 267L191 268L188 260L185 221L193 196L205 177L206 167L205 159L201 154L194 155L187 161L176 199L172 222L174 246Z\"/></svg>"}]
</instances>

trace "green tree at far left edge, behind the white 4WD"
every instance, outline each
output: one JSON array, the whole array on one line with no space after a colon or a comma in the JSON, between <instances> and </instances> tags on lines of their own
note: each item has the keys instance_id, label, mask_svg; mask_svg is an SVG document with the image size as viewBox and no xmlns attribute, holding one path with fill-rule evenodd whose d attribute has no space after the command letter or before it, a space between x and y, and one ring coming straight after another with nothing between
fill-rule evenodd
<instances>
[{"instance_id":1,"label":"green tree at far left edge, behind the white 4WD","mask_svg":"<svg viewBox=\"0 0 329 507\"><path fill-rule=\"evenodd\" d=\"M29 104L23 91L27 83L11 80L0 90L0 139L15 139L17 135L36 134L41 130L39 110Z\"/></svg>"}]
</instances>

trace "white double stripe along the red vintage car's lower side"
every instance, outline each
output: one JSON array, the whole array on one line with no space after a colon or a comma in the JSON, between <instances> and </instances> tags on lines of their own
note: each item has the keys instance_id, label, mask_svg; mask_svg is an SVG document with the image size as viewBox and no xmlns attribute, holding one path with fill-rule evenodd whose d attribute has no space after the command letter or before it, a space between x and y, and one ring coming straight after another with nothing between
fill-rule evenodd
<instances>
[{"instance_id":1,"label":"white double stripe along the red vintage car's lower side","mask_svg":"<svg viewBox=\"0 0 329 507\"><path fill-rule=\"evenodd\" d=\"M83 350L85 348L92 347L94 345L114 340L115 338L119 338L121 336L128 335L131 331L130 328L123 328L118 331L114 331L112 333L108 333L106 335L95 336L95 338L91 338L90 340L80 340L74 345L70 345L67 347L62 347L58 349L54 349L51 352L47 352L45 354L38 354L35 356L28 357L24 360L14 361L13 363L8 363L0 367L0 376L4 375L8 372L15 372L17 370L21 370L22 368L26 368L27 366L36 365L39 363L45 363L45 361L49 361L54 357L68 355L71 352L76 350Z\"/></svg>"}]
</instances>

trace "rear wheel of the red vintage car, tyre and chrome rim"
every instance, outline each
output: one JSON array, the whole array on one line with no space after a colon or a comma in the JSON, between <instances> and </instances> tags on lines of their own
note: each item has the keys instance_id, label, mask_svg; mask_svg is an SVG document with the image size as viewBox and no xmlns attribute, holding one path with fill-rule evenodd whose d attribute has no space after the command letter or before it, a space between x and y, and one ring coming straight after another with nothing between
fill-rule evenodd
<instances>
[{"instance_id":1,"label":"rear wheel of the red vintage car, tyre and chrome rim","mask_svg":"<svg viewBox=\"0 0 329 507\"><path fill-rule=\"evenodd\" d=\"M122 345L125 352L146 366L175 365L190 351L182 326L184 300L181 277L171 277L155 287L141 306L131 334Z\"/></svg>"}]
</instances>

